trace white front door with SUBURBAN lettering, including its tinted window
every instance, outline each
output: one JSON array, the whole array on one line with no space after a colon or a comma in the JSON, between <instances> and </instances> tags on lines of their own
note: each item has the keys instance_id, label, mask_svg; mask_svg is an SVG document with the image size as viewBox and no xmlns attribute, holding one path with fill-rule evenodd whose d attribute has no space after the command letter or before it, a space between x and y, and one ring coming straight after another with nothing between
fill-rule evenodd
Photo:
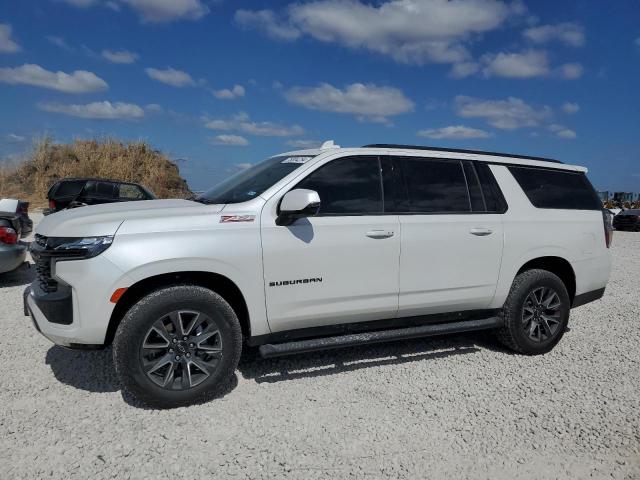
<instances>
[{"instance_id":1,"label":"white front door with SUBURBAN lettering, including its tinted window","mask_svg":"<svg viewBox=\"0 0 640 480\"><path fill-rule=\"evenodd\" d=\"M272 198L261 216L267 315L272 331L395 317L400 229L385 214L378 157L331 160ZM277 226L294 188L320 196L317 216Z\"/></svg>"}]
</instances>

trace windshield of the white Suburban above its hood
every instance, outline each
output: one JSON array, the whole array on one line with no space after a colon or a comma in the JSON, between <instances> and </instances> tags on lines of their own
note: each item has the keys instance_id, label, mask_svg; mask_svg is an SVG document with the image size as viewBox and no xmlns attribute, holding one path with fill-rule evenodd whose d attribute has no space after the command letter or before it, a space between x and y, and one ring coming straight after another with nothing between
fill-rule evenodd
<instances>
[{"instance_id":1,"label":"windshield of the white Suburban above its hood","mask_svg":"<svg viewBox=\"0 0 640 480\"><path fill-rule=\"evenodd\" d=\"M197 196L195 201L202 203L246 202L260 195L312 158L312 156L300 155L271 157L223 180L215 187Z\"/></svg>"}]
</instances>

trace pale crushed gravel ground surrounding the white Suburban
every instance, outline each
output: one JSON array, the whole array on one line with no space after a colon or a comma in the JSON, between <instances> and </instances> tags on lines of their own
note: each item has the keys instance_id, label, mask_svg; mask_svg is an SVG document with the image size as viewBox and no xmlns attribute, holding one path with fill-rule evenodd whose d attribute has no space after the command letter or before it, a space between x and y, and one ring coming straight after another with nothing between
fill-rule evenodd
<instances>
[{"instance_id":1,"label":"pale crushed gravel ground surrounding the white Suburban","mask_svg":"<svg viewBox=\"0 0 640 480\"><path fill-rule=\"evenodd\" d=\"M640 234L617 232L607 294L551 353L488 334L275 360L228 393L150 410L111 351L49 343L0 276L2 478L640 478Z\"/></svg>"}]
</instances>

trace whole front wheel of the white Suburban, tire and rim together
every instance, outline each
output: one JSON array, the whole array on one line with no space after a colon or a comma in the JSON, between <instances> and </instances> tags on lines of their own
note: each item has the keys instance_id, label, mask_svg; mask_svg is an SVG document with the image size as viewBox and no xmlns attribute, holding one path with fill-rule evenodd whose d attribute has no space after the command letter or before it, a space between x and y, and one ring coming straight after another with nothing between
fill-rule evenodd
<instances>
[{"instance_id":1,"label":"whole front wheel of the white Suburban, tire and rim together","mask_svg":"<svg viewBox=\"0 0 640 480\"><path fill-rule=\"evenodd\" d=\"M126 313L113 341L125 390L158 408L215 397L233 375L241 350L240 323L231 306L196 285L143 297Z\"/></svg>"}]
</instances>

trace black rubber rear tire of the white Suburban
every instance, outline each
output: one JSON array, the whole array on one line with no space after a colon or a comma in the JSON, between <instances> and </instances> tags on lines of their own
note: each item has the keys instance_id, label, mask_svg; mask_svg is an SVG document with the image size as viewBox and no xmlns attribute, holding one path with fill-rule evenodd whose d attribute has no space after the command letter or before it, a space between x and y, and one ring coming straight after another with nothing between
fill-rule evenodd
<instances>
[{"instance_id":1,"label":"black rubber rear tire of the white Suburban","mask_svg":"<svg viewBox=\"0 0 640 480\"><path fill-rule=\"evenodd\" d=\"M553 319L557 323L553 325L553 331L549 329L550 322L543 319L549 311L540 303L538 309L534 306L531 312L531 295L536 298L537 292L554 292L557 294L559 305L554 311ZM547 297L548 298L548 297ZM555 297L554 297L555 299ZM527 310L525 311L525 302ZM549 352L560 341L569 322L571 308L569 293L562 280L547 270L533 269L520 273L511 286L509 296L505 301L501 312L504 325L497 330L498 340L506 347L525 355L539 355ZM553 305L555 306L555 300ZM555 310L555 309L554 309ZM542 312L542 313L541 313ZM534 315L535 318L531 318ZM527 320L531 318L531 320ZM539 338L535 338L536 325Z\"/></svg>"}]
</instances>

